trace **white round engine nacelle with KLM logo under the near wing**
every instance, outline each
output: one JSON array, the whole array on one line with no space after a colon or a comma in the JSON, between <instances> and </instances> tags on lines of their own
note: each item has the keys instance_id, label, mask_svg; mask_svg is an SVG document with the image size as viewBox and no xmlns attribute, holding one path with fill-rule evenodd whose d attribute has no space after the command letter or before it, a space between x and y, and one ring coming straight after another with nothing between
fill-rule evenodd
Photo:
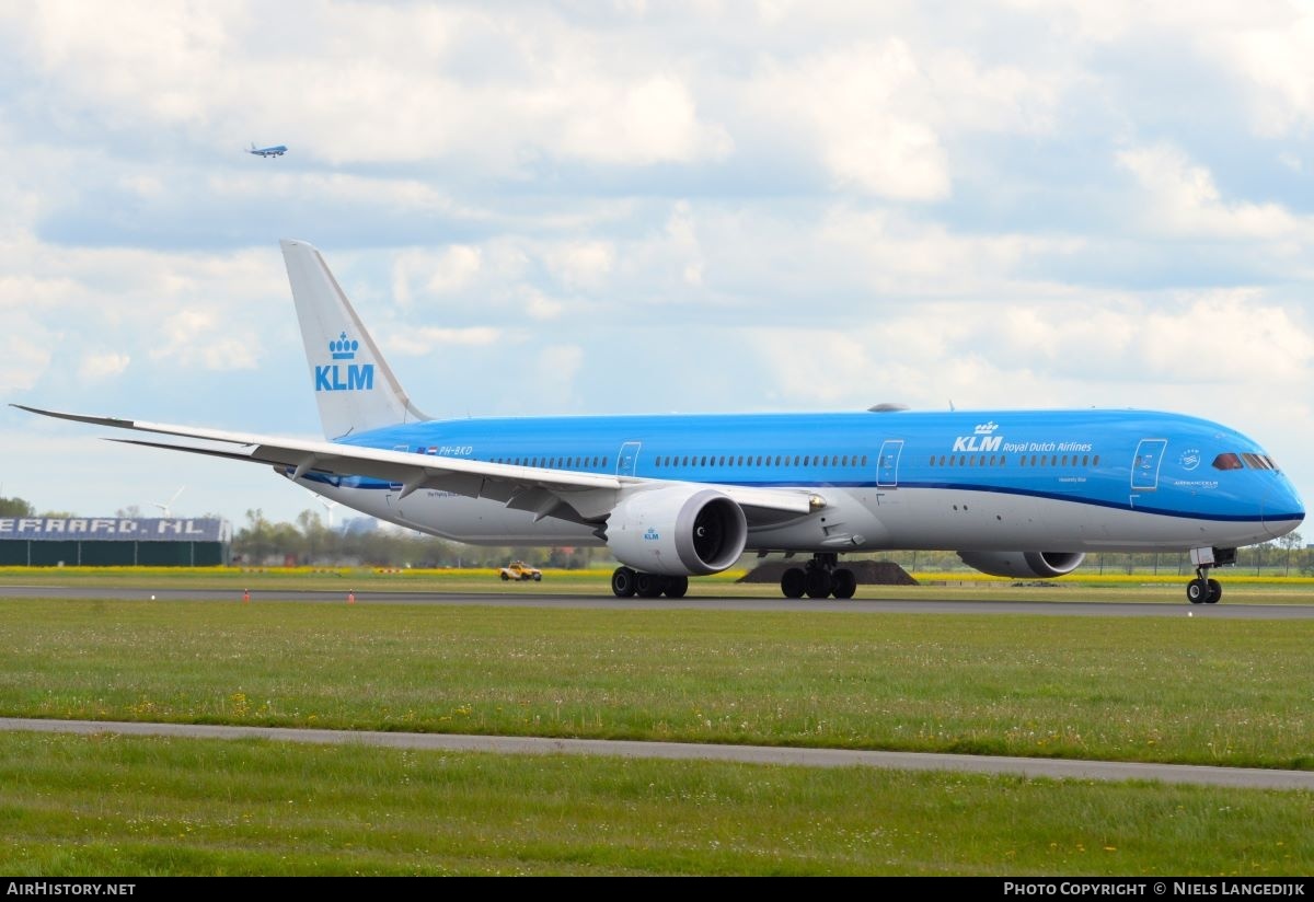
<instances>
[{"instance_id":1,"label":"white round engine nacelle with KLM logo under the near wing","mask_svg":"<svg viewBox=\"0 0 1314 902\"><path fill-rule=\"evenodd\" d=\"M664 576L720 572L744 553L744 511L714 488L639 491L607 517L607 548L627 567Z\"/></svg>"}]
</instances>

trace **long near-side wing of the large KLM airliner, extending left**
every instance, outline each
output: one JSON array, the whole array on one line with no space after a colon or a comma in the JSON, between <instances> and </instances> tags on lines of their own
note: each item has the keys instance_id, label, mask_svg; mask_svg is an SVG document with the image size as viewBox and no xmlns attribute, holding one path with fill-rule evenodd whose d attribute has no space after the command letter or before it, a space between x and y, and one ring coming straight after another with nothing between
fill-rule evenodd
<instances>
[{"instance_id":1,"label":"long near-side wing of the large KLM airliner, extending left","mask_svg":"<svg viewBox=\"0 0 1314 902\"><path fill-rule=\"evenodd\" d=\"M487 498L507 507L533 511L536 519L547 516L600 523L607 517L624 492L650 488L665 481L637 477L618 477L604 473L549 470L511 463L489 463L459 457L436 457L410 452L363 448L335 441L284 439L222 429L201 429L167 423L124 420L112 416L85 416L60 411L41 410L25 404L11 404L41 416L53 416L75 423L176 436L189 442L147 441L116 439L134 445L225 457L251 463L265 463L284 475L297 479L307 473L336 477L371 477L399 483L401 498L434 488L469 498ZM779 523L791 516L803 516L823 504L816 495L802 488L757 488L749 486L714 484L740 507L749 525Z\"/></svg>"}]
</instances>

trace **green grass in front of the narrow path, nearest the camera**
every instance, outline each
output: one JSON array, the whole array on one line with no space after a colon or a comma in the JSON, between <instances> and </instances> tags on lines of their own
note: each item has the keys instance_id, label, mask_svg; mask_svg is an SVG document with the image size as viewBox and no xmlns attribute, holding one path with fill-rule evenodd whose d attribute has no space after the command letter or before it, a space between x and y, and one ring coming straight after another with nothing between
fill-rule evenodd
<instances>
[{"instance_id":1,"label":"green grass in front of the narrow path, nearest the camera","mask_svg":"<svg viewBox=\"0 0 1314 902\"><path fill-rule=\"evenodd\" d=\"M1309 874L1310 796L0 734L0 873Z\"/></svg>"}]
</instances>

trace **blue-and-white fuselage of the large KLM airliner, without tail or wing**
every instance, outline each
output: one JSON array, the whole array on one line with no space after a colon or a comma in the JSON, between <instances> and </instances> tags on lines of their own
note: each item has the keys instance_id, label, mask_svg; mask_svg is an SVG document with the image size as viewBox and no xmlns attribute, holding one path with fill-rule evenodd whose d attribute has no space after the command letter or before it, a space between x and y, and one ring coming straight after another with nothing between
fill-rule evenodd
<instances>
[{"instance_id":1,"label":"blue-and-white fuselage of the large KLM airliner, without tail or wing","mask_svg":"<svg viewBox=\"0 0 1314 902\"><path fill-rule=\"evenodd\" d=\"M825 512L804 517L811 526L773 525L754 530L749 548L830 548L825 540L836 516L861 524L845 533L861 540L846 550L1236 546L1290 532L1305 515L1292 483L1254 440L1218 423L1152 411L470 419L389 427L344 441L645 481L803 487L827 499L832 525L823 525ZM461 528L473 509L468 504L453 500L451 516L440 513L432 502L444 492L427 492L430 507L422 508L422 498L407 512L385 482L335 479L332 488L406 525L493 541L485 526ZM367 502L365 494L374 498ZM502 541L587 536L578 524L543 523L527 523Z\"/></svg>"}]
</instances>

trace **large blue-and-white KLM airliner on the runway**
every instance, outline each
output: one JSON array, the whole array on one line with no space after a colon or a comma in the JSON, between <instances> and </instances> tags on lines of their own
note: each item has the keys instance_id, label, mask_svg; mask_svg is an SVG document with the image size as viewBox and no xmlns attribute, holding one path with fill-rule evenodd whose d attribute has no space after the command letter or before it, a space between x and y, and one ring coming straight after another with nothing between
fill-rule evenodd
<instances>
[{"instance_id":1,"label":"large blue-and-white KLM airliner on the runway","mask_svg":"<svg viewBox=\"0 0 1314 902\"><path fill-rule=\"evenodd\" d=\"M643 415L434 420L384 361L321 253L284 240L325 441L34 414L154 433L120 439L272 466L376 517L459 542L604 545L622 597L679 597L689 578L811 555L788 597L851 597L846 553L958 551L1014 578L1091 551L1189 551L1193 604L1239 546L1305 517L1254 440L1137 410Z\"/></svg>"}]
</instances>

